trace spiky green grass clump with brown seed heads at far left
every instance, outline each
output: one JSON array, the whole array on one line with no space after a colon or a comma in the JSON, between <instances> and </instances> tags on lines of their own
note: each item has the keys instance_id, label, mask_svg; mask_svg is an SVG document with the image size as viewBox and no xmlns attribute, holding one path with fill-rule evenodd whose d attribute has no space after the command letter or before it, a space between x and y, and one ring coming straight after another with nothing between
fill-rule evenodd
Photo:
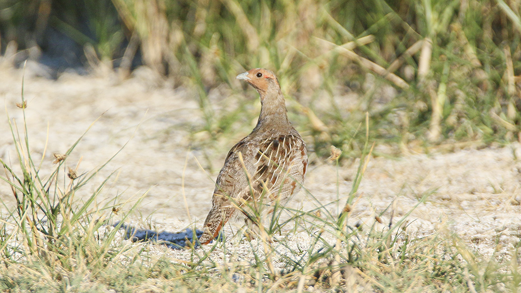
<instances>
[{"instance_id":1,"label":"spiky green grass clump with brown seed heads at far left","mask_svg":"<svg viewBox=\"0 0 521 293\"><path fill-rule=\"evenodd\" d=\"M44 164L45 151L41 158L35 158L31 150L23 87L22 100L17 106L23 113L22 125L10 119L8 113L5 121L10 126L17 161L13 164L0 159L5 171L0 180L11 190L10 199L7 194L0 198L3 206L0 263L14 275L3 274L0 288L3 291L13 288L32 290L32 284L26 283L32 279L36 287L65 290L70 285L68 281L63 284L53 282L69 277L82 281L81 275L110 266L119 254L128 249L114 244L114 239L122 221L140 200L119 215L116 215L117 206L98 206L97 197L114 172L95 187L90 196L78 199L76 193L92 185L93 177L117 154L96 170L79 174L79 162L76 167L70 167L67 157L81 142L85 131L65 154L53 154L56 167L46 170L42 167L48 165ZM114 218L120 224L112 226ZM41 284L38 284L39 279Z\"/></svg>"}]
</instances>

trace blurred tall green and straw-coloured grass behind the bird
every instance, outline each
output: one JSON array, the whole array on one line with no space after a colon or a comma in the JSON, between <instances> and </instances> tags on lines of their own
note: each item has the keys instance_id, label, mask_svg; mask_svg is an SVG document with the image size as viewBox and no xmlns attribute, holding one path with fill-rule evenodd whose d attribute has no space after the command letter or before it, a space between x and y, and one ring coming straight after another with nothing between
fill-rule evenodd
<instances>
[{"instance_id":1,"label":"blurred tall green and straw-coloured grass behind the bird","mask_svg":"<svg viewBox=\"0 0 521 293\"><path fill-rule=\"evenodd\" d=\"M291 120L319 156L331 144L343 156L361 154L366 111L375 155L403 154L519 139L520 7L518 0L1 0L0 48L14 65L50 56L58 71L102 65L126 78L150 67L197 91L203 137L214 138L237 132L233 122L252 113L242 105L215 113L212 91L228 95L235 75L266 67L277 72L298 114Z\"/></svg>"}]
</instances>

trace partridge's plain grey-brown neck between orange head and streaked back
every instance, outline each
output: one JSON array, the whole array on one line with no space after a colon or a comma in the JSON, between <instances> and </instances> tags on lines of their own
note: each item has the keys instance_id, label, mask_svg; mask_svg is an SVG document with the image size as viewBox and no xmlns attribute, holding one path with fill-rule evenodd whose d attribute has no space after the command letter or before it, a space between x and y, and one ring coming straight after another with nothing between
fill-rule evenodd
<instances>
[{"instance_id":1,"label":"partridge's plain grey-brown neck between orange head and streaked back","mask_svg":"<svg viewBox=\"0 0 521 293\"><path fill-rule=\"evenodd\" d=\"M267 92L261 93L261 114L257 127L269 124L277 124L279 128L280 126L291 125L288 120L286 100L284 100L280 90L277 89L269 89Z\"/></svg>"}]
</instances>

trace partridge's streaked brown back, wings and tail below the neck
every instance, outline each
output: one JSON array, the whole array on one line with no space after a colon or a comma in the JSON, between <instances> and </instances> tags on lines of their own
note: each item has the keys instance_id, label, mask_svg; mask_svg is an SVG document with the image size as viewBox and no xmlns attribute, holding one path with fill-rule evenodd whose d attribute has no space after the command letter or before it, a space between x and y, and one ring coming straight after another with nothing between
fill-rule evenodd
<instances>
[{"instance_id":1,"label":"partridge's streaked brown back, wings and tail below the neck","mask_svg":"<svg viewBox=\"0 0 521 293\"><path fill-rule=\"evenodd\" d=\"M247 212L246 203L258 202L264 190L264 203L291 199L301 188L306 168L306 147L298 134L242 139L230 150L217 176L200 242L214 239L238 208Z\"/></svg>"}]
</instances>

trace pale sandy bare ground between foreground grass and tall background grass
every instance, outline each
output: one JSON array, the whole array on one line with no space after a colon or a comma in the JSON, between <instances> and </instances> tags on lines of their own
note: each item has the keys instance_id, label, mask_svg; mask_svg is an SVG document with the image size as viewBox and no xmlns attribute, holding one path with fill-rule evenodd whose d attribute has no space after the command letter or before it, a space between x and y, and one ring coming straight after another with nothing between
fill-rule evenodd
<instances>
[{"instance_id":1,"label":"pale sandy bare ground between foreground grass and tall background grass","mask_svg":"<svg viewBox=\"0 0 521 293\"><path fill-rule=\"evenodd\" d=\"M122 82L110 75L81 77L70 73L61 75L57 81L37 75L38 72L28 68L24 93L28 101L26 117L32 155L41 158L45 150L42 176L54 168L52 154L65 152L99 118L67 159L68 167L75 168L81 159L79 173L93 170L127 145L95 176L93 184L81 190L80 199L116 171L98 197L100 207L127 202L122 208L128 208L148 190L134 216L136 225L158 232L182 231L194 223L201 227L211 205L213 181L234 142L228 141L216 150L193 147L191 135L203 125L194 93L174 89L169 82L157 82L149 78L152 74L146 69L139 69L131 79ZM0 98L19 127L23 117L16 103L21 100L21 81L21 70L0 70ZM224 110L219 100L210 101L217 110ZM0 114L0 121L0 158L16 165L5 111ZM309 137L305 139L311 142ZM205 156L209 159L204 159ZM408 231L427 235L449 227L485 255L497 247L497 239L501 244L498 256L508 253L521 231L521 161L517 159L520 157L521 146L513 144L449 154L372 158L350 223L371 225L375 215L388 207L391 208L381 216L382 225L391 216L396 222L423 194L431 193L410 215ZM311 159L313 163L304 184L308 192L322 203L338 198L345 202L357 162L340 167L337 180L334 165L313 154ZM0 197L7 205L14 202L4 182L0 182ZM316 205L301 192L290 206L309 210ZM331 205L331 211L337 213L337 206ZM302 233L292 237L301 244L308 240ZM237 245L250 247L250 244ZM159 254L189 257L182 251L155 246Z\"/></svg>"}]
</instances>

